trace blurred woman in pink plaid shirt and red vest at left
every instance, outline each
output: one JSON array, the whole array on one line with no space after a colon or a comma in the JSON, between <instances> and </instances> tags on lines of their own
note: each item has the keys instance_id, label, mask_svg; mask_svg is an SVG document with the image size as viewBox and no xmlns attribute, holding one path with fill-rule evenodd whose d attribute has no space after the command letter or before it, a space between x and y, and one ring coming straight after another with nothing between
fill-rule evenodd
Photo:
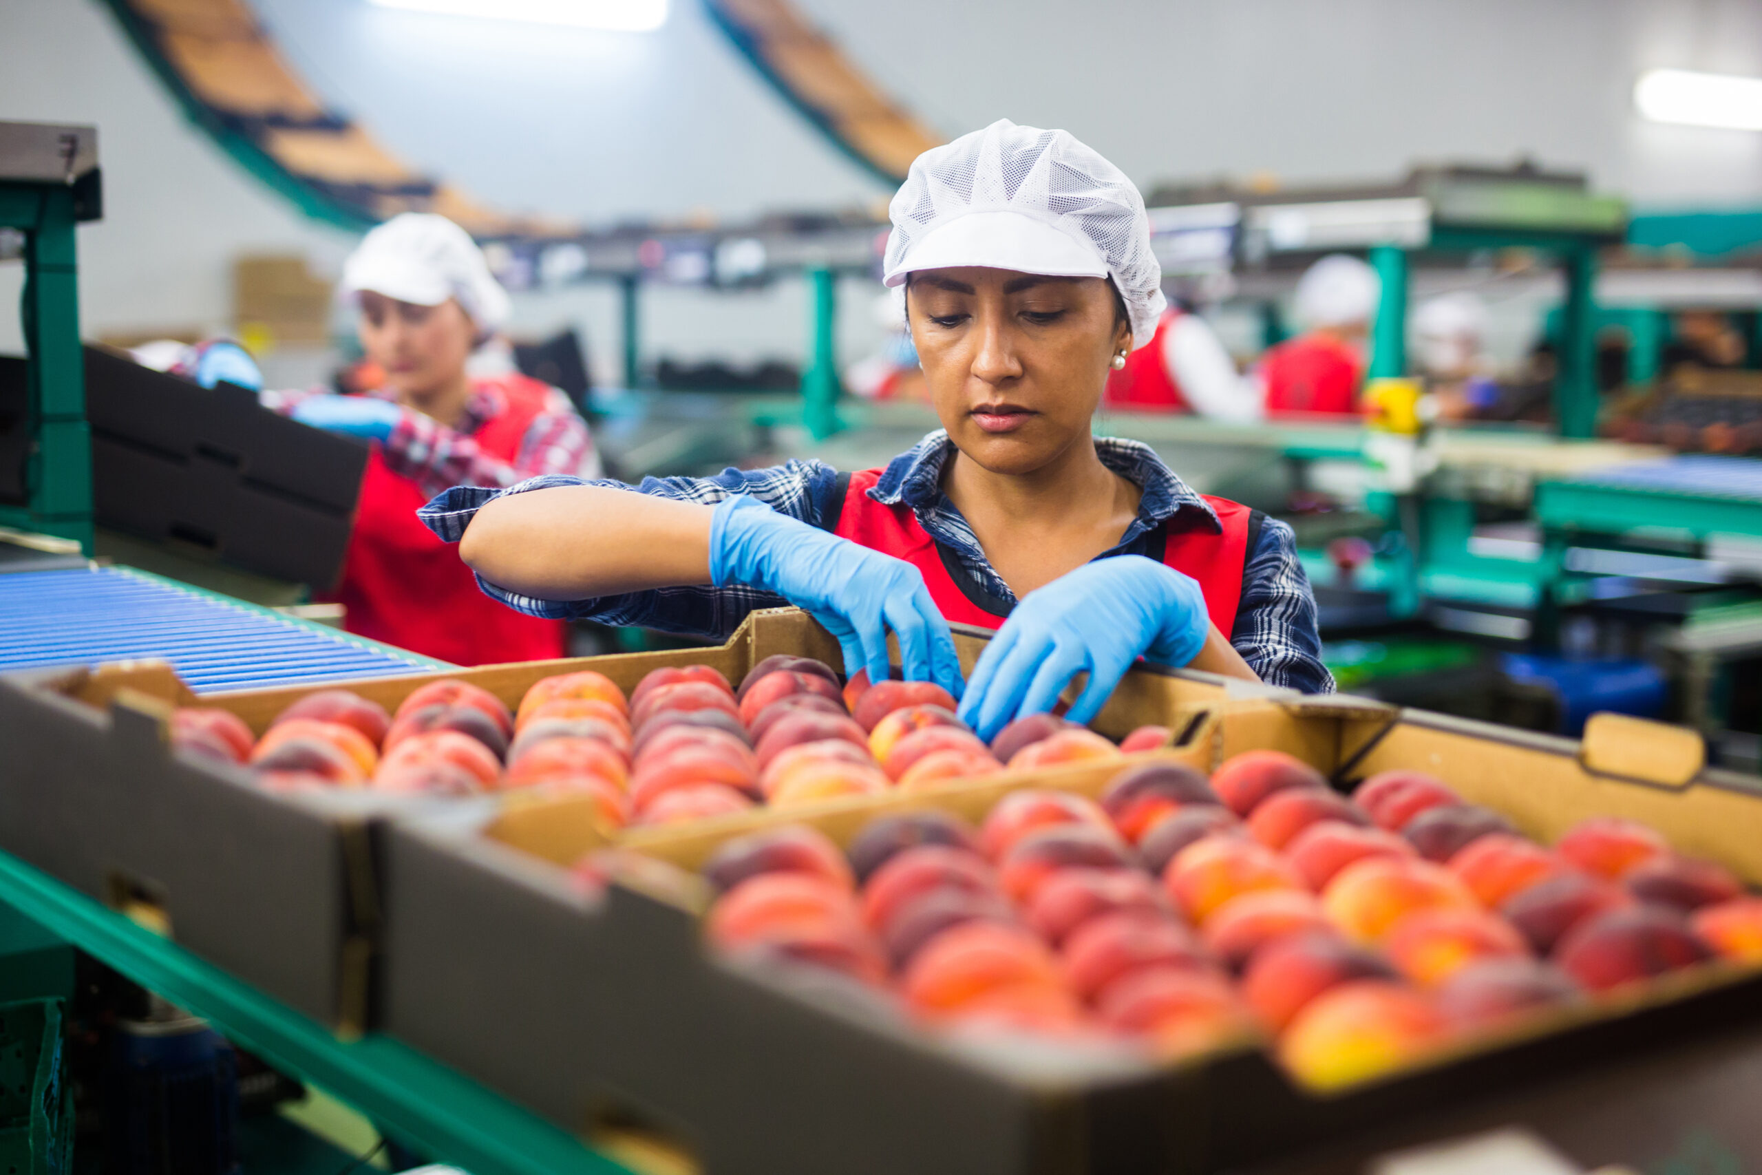
<instances>
[{"instance_id":1,"label":"blurred woman in pink plaid shirt and red vest at left","mask_svg":"<svg viewBox=\"0 0 1762 1175\"><path fill-rule=\"evenodd\" d=\"M416 520L455 484L511 486L539 474L597 477L599 456L569 398L467 361L509 314L507 292L456 224L403 213L344 266L340 296L379 388L363 395L266 393L294 419L374 442L354 534L331 599L351 632L451 661L564 655L564 624L523 617L478 590L458 555Z\"/></svg>"}]
</instances>

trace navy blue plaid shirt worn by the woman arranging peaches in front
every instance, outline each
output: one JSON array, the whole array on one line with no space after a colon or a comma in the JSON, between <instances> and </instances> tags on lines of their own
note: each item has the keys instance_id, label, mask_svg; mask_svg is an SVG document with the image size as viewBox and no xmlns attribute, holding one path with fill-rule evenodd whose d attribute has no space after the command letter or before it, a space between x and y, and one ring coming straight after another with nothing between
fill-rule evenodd
<instances>
[{"instance_id":1,"label":"navy blue plaid shirt worn by the woman arranging peaches in front","mask_svg":"<svg viewBox=\"0 0 1762 1175\"><path fill-rule=\"evenodd\" d=\"M985 558L967 520L943 493L943 465L953 449L948 433L932 432L888 463L870 495L883 504L906 502L911 506L923 528L953 551L960 567L973 576L978 587L1001 601L1015 601L1010 585ZM1099 558L1138 553L1165 520L1175 520L1177 528L1181 518L1200 525L1205 525L1202 520L1210 520L1212 527L1218 525L1205 499L1175 477L1149 446L1136 440L1096 437L1096 454L1103 465L1142 490L1138 516L1126 527L1119 544ZM789 514L812 527L826 525L830 528L835 521L830 513L837 509L833 502L837 477L837 470L823 462L791 460L770 469L724 469L715 477L643 477L636 490L705 506L714 506L733 493L751 493L781 514ZM478 509L492 499L504 493L581 484L631 488L617 481L585 481L560 474L532 477L502 490L455 486L428 502L419 516L444 541L458 543ZM742 585L726 588L675 587L599 599L550 601L507 592L486 583L481 576L478 583L509 608L534 617L640 625L712 639L722 639L733 632L749 611L788 604L779 595ZM1242 599L1237 604L1230 643L1263 682L1314 694L1334 689L1334 678L1322 664L1316 601L1309 590L1309 578L1304 574L1302 564L1297 562L1295 537L1288 525L1274 518L1265 520L1260 541L1247 553L1242 569Z\"/></svg>"}]
</instances>

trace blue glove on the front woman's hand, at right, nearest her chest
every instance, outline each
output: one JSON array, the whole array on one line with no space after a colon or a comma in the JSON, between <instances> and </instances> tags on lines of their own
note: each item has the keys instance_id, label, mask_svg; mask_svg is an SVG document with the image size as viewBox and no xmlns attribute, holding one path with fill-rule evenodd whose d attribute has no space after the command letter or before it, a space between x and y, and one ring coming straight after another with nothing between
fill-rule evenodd
<instances>
[{"instance_id":1,"label":"blue glove on the front woman's hand, at right, nearest her chest","mask_svg":"<svg viewBox=\"0 0 1762 1175\"><path fill-rule=\"evenodd\" d=\"M960 717L990 742L1011 719L1052 710L1087 669L1066 715L1087 722L1140 655L1184 666L1209 632L1196 580L1144 555L1098 558L1022 597L980 654Z\"/></svg>"}]
</instances>

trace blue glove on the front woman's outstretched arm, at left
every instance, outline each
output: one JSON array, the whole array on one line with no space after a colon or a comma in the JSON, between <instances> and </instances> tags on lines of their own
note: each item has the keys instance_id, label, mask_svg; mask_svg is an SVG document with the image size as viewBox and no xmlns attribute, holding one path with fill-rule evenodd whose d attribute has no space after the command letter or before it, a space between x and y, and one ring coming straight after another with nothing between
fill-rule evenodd
<instances>
[{"instance_id":1,"label":"blue glove on the front woman's outstretched arm, at left","mask_svg":"<svg viewBox=\"0 0 1762 1175\"><path fill-rule=\"evenodd\" d=\"M839 638L844 671L888 673L886 631L899 638L907 682L936 682L960 698L960 659L948 622L918 569L805 521L754 497L735 495L710 516L710 580L777 592Z\"/></svg>"}]
</instances>

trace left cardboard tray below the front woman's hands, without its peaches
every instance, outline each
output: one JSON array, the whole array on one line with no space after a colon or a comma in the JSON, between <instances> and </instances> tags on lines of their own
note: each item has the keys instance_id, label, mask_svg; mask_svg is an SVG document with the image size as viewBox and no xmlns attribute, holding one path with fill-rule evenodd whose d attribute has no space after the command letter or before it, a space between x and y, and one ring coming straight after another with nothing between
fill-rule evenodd
<instances>
[{"instance_id":1,"label":"left cardboard tray below the front woman's hands, without its peaches","mask_svg":"<svg viewBox=\"0 0 1762 1175\"><path fill-rule=\"evenodd\" d=\"M960 636L966 655L981 639ZM222 706L254 733L315 689L352 689L395 710L418 687L462 678L511 708L553 673L599 669L626 691L650 669L703 662L731 680L772 654L839 664L839 647L795 610L747 618L719 648L532 661L359 682L215 692L199 699L162 662L0 676L0 849L162 925L183 946L300 1011L372 1027L384 934L381 842L388 821L469 807L372 791L275 794L241 766L173 750L173 706ZM1115 708L1188 721L1230 691L1209 675L1133 673ZM1156 701L1151 701L1151 699ZM1124 733L1124 731L1121 731ZM553 835L594 839L587 805L562 805Z\"/></svg>"}]
</instances>

